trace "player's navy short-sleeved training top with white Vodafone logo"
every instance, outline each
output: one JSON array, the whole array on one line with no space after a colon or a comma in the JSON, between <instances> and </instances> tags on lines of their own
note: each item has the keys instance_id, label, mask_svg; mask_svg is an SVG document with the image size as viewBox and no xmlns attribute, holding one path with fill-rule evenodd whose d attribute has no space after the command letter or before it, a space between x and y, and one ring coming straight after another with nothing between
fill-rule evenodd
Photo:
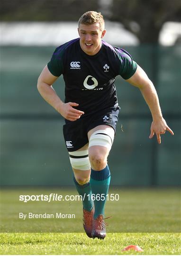
<instances>
[{"instance_id":1,"label":"player's navy short-sleeved training top with white Vodafone logo","mask_svg":"<svg viewBox=\"0 0 181 256\"><path fill-rule=\"evenodd\" d=\"M87 55L81 49L80 38L57 47L47 66L54 76L63 74L64 102L79 103L75 108L84 111L83 116L109 107L119 108L115 77L129 79L137 68L125 50L103 40L96 55Z\"/></svg>"}]
</instances>

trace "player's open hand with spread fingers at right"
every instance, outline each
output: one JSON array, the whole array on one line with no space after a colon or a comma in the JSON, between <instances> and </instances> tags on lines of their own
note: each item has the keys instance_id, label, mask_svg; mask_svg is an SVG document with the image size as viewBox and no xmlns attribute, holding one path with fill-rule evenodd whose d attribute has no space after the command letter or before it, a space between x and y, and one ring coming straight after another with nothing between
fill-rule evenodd
<instances>
[{"instance_id":1,"label":"player's open hand with spread fingers at right","mask_svg":"<svg viewBox=\"0 0 181 256\"><path fill-rule=\"evenodd\" d=\"M156 134L157 137L157 141L159 144L161 144L161 134L165 134L166 131L169 131L172 135L174 135L173 131L171 130L171 128L168 127L165 119L160 118L160 119L156 119L152 122L151 125L151 133L149 138L153 138L154 137L154 133Z\"/></svg>"}]
</instances>

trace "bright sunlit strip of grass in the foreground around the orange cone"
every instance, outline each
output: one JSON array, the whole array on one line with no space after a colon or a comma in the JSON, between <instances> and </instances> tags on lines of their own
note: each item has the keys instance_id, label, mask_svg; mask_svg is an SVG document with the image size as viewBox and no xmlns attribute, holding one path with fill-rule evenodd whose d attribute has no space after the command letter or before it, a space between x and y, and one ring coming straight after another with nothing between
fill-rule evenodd
<instances>
[{"instance_id":1,"label":"bright sunlit strip of grass in the foreground around the orange cone","mask_svg":"<svg viewBox=\"0 0 181 256\"><path fill-rule=\"evenodd\" d=\"M144 252L124 251L139 245ZM4 233L1 255L180 255L179 233L108 233L104 240L83 233Z\"/></svg>"}]
</instances>

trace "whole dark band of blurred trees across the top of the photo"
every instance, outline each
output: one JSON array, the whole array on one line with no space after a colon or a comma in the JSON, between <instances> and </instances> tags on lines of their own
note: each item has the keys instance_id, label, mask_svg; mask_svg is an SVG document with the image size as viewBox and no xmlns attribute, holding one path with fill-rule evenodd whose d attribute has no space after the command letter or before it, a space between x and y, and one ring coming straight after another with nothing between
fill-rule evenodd
<instances>
[{"instance_id":1,"label":"whole dark band of blurred trees across the top of the photo","mask_svg":"<svg viewBox=\"0 0 181 256\"><path fill-rule=\"evenodd\" d=\"M181 0L1 0L1 21L77 21L102 11L134 33L140 43L158 43L166 21L181 21Z\"/></svg>"}]
</instances>

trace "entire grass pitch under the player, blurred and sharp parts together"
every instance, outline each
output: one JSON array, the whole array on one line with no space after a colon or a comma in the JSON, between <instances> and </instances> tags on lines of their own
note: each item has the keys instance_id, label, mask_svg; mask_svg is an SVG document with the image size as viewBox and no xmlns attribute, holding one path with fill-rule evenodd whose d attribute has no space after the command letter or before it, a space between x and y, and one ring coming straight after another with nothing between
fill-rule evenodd
<instances>
[{"instance_id":1,"label":"entire grass pitch under the player, blurred and sharp parts together","mask_svg":"<svg viewBox=\"0 0 181 256\"><path fill-rule=\"evenodd\" d=\"M179 189L114 189L118 201L107 201L109 227L102 241L82 228L81 201L19 201L20 194L76 194L75 189L17 188L1 192L1 254L4 255L180 255ZM18 212L71 212L76 219L19 219ZM128 245L144 252L122 252Z\"/></svg>"}]
</instances>

